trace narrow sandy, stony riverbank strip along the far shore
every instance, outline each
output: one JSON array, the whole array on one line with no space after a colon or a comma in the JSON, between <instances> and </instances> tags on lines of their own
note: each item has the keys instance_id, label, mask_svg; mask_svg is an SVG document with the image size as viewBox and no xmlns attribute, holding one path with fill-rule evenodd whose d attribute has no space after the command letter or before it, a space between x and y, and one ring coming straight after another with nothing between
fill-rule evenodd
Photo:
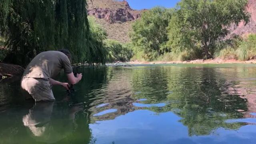
<instances>
[{"instance_id":1,"label":"narrow sandy, stony riverbank strip along the far shore","mask_svg":"<svg viewBox=\"0 0 256 144\"><path fill-rule=\"evenodd\" d=\"M220 58L216 59L209 59L209 60L187 60L187 61L154 61L154 62L147 62L147 61L130 61L129 64L256 64L256 59L248 60L248 61L239 61L236 59L229 59L229 60L222 60Z\"/></svg>"}]
</instances>

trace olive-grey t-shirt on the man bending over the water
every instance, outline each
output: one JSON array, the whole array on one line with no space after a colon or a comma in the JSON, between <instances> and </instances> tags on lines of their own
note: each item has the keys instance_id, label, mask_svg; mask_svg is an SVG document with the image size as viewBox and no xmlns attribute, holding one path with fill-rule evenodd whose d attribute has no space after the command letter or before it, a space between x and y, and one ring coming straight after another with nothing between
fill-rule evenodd
<instances>
[{"instance_id":1,"label":"olive-grey t-shirt on the man bending over the water","mask_svg":"<svg viewBox=\"0 0 256 144\"><path fill-rule=\"evenodd\" d=\"M62 69L66 74L72 73L68 56L59 51L46 51L38 54L27 66L23 78L45 78L56 76Z\"/></svg>"}]
</instances>

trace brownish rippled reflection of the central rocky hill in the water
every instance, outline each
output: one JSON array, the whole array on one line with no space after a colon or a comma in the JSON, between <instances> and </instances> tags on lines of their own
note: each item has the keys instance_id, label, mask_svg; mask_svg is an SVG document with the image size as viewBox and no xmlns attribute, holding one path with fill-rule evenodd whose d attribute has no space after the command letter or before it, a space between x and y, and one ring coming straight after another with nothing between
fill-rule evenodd
<instances>
[{"instance_id":1,"label":"brownish rippled reflection of the central rocky hill in the water","mask_svg":"<svg viewBox=\"0 0 256 144\"><path fill-rule=\"evenodd\" d=\"M117 116L134 111L131 98L132 91L130 85L130 76L132 69L106 68L107 82L102 84L101 88L92 89L88 92L90 98L89 110L90 121L110 120ZM100 104L105 106L98 107ZM114 109L116 112L106 113L102 116L93 116L104 110Z\"/></svg>"}]
</instances>

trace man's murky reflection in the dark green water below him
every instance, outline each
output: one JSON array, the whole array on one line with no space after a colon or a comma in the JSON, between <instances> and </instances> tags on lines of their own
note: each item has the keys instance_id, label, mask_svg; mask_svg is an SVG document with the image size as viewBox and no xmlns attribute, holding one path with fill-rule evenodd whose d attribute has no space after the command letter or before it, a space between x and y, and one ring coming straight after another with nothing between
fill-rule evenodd
<instances>
[{"instance_id":1,"label":"man's murky reflection in the dark green water below him","mask_svg":"<svg viewBox=\"0 0 256 144\"><path fill-rule=\"evenodd\" d=\"M23 116L24 126L28 127L36 141L53 143L66 138L75 128L75 114L82 110L81 105L53 112L54 102L39 102Z\"/></svg>"}]
</instances>

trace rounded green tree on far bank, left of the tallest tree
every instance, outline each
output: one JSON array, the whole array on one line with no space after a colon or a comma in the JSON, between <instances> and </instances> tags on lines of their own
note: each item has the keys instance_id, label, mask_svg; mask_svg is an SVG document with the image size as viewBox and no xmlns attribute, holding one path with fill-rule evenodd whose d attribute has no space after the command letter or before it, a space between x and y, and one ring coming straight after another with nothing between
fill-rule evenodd
<instances>
[{"instance_id":1,"label":"rounded green tree on far bank, left of the tallest tree","mask_svg":"<svg viewBox=\"0 0 256 144\"><path fill-rule=\"evenodd\" d=\"M161 7L144 11L133 26L130 34L132 43L143 53L146 60L154 60L157 56L168 51L166 28L173 10Z\"/></svg>"}]
</instances>

